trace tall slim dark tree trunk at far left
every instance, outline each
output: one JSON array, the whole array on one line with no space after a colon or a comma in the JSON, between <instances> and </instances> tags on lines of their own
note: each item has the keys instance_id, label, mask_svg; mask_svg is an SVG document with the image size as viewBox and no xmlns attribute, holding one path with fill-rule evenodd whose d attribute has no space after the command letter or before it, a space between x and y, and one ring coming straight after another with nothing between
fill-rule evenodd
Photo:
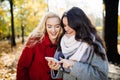
<instances>
[{"instance_id":1,"label":"tall slim dark tree trunk at far left","mask_svg":"<svg viewBox=\"0 0 120 80\"><path fill-rule=\"evenodd\" d=\"M11 13L11 47L16 46L15 42L15 30L14 30L14 16L13 16L13 0L10 0L10 13Z\"/></svg>"}]
</instances>

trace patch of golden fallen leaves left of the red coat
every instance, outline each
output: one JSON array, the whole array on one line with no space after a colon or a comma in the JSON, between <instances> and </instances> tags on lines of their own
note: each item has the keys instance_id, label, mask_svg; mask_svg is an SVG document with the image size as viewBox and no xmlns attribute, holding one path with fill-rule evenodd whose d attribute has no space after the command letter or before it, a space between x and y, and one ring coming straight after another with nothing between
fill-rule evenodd
<instances>
[{"instance_id":1,"label":"patch of golden fallen leaves left of the red coat","mask_svg":"<svg viewBox=\"0 0 120 80\"><path fill-rule=\"evenodd\" d=\"M11 48L9 41L0 41L0 80L16 80L17 62L23 45Z\"/></svg>"}]
</instances>

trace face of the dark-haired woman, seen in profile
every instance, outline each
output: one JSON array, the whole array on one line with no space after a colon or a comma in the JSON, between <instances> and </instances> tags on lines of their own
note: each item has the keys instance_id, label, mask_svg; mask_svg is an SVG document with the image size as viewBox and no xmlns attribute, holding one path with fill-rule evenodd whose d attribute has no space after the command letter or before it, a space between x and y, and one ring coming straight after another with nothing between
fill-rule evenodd
<instances>
[{"instance_id":1,"label":"face of the dark-haired woman, seen in profile","mask_svg":"<svg viewBox=\"0 0 120 80\"><path fill-rule=\"evenodd\" d=\"M68 25L67 17L63 18L64 29L69 36L75 35L75 30Z\"/></svg>"}]
</instances>

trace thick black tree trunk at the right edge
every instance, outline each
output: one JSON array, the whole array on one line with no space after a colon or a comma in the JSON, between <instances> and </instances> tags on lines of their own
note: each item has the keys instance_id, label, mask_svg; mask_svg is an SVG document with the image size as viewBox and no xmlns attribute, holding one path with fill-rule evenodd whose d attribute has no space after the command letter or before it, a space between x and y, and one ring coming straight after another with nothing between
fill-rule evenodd
<instances>
[{"instance_id":1,"label":"thick black tree trunk at the right edge","mask_svg":"<svg viewBox=\"0 0 120 80\"><path fill-rule=\"evenodd\" d=\"M104 39L107 48L108 60L112 61L113 63L120 63L120 55L117 49L119 0L104 0L104 3L105 3Z\"/></svg>"}]
</instances>

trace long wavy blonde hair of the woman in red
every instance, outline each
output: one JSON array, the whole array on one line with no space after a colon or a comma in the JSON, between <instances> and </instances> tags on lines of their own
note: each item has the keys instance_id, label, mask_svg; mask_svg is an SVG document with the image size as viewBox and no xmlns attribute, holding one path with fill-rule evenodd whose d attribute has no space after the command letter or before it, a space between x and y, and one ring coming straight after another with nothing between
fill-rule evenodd
<instances>
[{"instance_id":1,"label":"long wavy blonde hair of the woman in red","mask_svg":"<svg viewBox=\"0 0 120 80\"><path fill-rule=\"evenodd\" d=\"M31 34L28 37L28 40L26 42L26 46L33 46L34 44L36 44L38 41L42 42L45 33L46 33L46 21L48 18L53 18L56 17L60 20L60 17L53 13L53 12L48 12L39 22L38 26L31 32ZM62 34L62 27L61 30L59 32L57 41L59 40L60 36Z\"/></svg>"}]
</instances>

